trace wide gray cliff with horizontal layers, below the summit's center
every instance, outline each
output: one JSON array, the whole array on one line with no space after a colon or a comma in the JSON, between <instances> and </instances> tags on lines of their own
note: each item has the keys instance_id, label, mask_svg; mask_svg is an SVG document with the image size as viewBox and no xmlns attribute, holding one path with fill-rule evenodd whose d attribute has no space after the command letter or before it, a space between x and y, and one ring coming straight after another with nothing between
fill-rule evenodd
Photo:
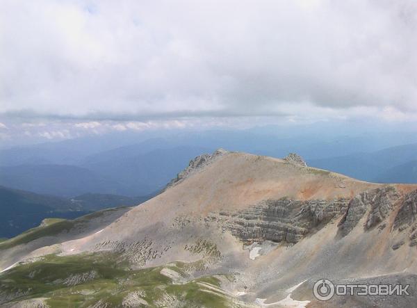
<instances>
[{"instance_id":1,"label":"wide gray cliff with horizontal layers, below the summit's center","mask_svg":"<svg viewBox=\"0 0 417 308\"><path fill-rule=\"evenodd\" d=\"M348 200L266 200L250 209L238 212L221 212L224 227L241 241L272 241L297 243L318 227L341 216Z\"/></svg>"}]
</instances>

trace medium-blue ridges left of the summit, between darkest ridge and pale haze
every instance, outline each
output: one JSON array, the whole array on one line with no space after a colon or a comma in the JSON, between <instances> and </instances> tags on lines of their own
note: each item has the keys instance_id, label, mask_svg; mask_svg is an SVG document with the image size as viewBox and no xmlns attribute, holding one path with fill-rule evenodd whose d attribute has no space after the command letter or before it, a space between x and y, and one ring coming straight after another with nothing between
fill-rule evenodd
<instances>
[{"instance_id":1,"label":"medium-blue ridges left of the summit, between darkest ridge and pale haze","mask_svg":"<svg viewBox=\"0 0 417 308\"><path fill-rule=\"evenodd\" d=\"M149 195L188 165L204 147L148 150L131 145L87 156L79 165L21 164L0 167L0 185L35 193L71 197L85 193ZM148 152L147 152L148 151Z\"/></svg>"}]
</instances>

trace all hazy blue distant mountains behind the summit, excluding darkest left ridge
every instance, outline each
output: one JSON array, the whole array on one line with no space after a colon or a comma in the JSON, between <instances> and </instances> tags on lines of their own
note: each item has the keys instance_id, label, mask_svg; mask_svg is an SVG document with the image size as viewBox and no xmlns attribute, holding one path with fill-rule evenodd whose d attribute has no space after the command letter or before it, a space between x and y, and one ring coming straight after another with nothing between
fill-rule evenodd
<instances>
[{"instance_id":1,"label":"all hazy blue distant mountains behind the summit, excluding darkest left ridge","mask_svg":"<svg viewBox=\"0 0 417 308\"><path fill-rule=\"evenodd\" d=\"M218 147L281 157L297 152L309 165L365 181L417 182L412 168L417 143L393 134L299 136L291 131L204 131L177 133L119 146L122 140L79 138L0 151L0 185L34 193L73 197L87 193L135 197L160 191L190 157ZM287 136L287 137L286 137ZM132 143L130 138L126 143ZM362 152L356 152L360 149ZM376 149L376 150L375 150ZM345 155L343 155L345 154Z\"/></svg>"}]
</instances>

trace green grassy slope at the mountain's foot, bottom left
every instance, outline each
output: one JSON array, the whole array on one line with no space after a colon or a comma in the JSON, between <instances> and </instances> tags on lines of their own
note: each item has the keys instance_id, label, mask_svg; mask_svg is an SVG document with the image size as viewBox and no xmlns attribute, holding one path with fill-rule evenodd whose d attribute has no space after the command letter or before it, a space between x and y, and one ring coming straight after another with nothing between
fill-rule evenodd
<instances>
[{"instance_id":1,"label":"green grassy slope at the mountain's foot, bottom left","mask_svg":"<svg viewBox=\"0 0 417 308\"><path fill-rule=\"evenodd\" d=\"M140 294L150 307L158 303L170 307L170 301L179 301L186 307L229 307L221 292L209 293L200 282L218 286L215 277L202 277L184 284L172 284L161 275L163 266L131 270L118 263L111 253L79 254L58 257L49 255L42 260L22 264L0 274L0 302L5 295L17 295L14 301L29 298L47 298L51 307L88 307L100 302L101 307L121 307L129 294ZM183 273L184 264L170 264L169 268ZM168 266L165 266L165 268ZM95 273L90 279L79 279L69 284L68 278L83 273ZM3 296L2 296L3 295ZM10 300L10 299L9 299Z\"/></svg>"}]
</instances>

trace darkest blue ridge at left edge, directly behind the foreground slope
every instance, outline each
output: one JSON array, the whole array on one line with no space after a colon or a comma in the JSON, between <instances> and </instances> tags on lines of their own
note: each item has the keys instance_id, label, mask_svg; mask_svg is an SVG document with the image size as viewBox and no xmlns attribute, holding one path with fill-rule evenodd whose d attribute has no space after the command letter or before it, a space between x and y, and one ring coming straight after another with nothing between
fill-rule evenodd
<instances>
[{"instance_id":1,"label":"darkest blue ridge at left edge, directly behind the foreground slope","mask_svg":"<svg viewBox=\"0 0 417 308\"><path fill-rule=\"evenodd\" d=\"M64 198L0 186L0 238L9 238L36 227L44 218L72 219L110 207L137 205L151 197L89 193Z\"/></svg>"}]
</instances>

